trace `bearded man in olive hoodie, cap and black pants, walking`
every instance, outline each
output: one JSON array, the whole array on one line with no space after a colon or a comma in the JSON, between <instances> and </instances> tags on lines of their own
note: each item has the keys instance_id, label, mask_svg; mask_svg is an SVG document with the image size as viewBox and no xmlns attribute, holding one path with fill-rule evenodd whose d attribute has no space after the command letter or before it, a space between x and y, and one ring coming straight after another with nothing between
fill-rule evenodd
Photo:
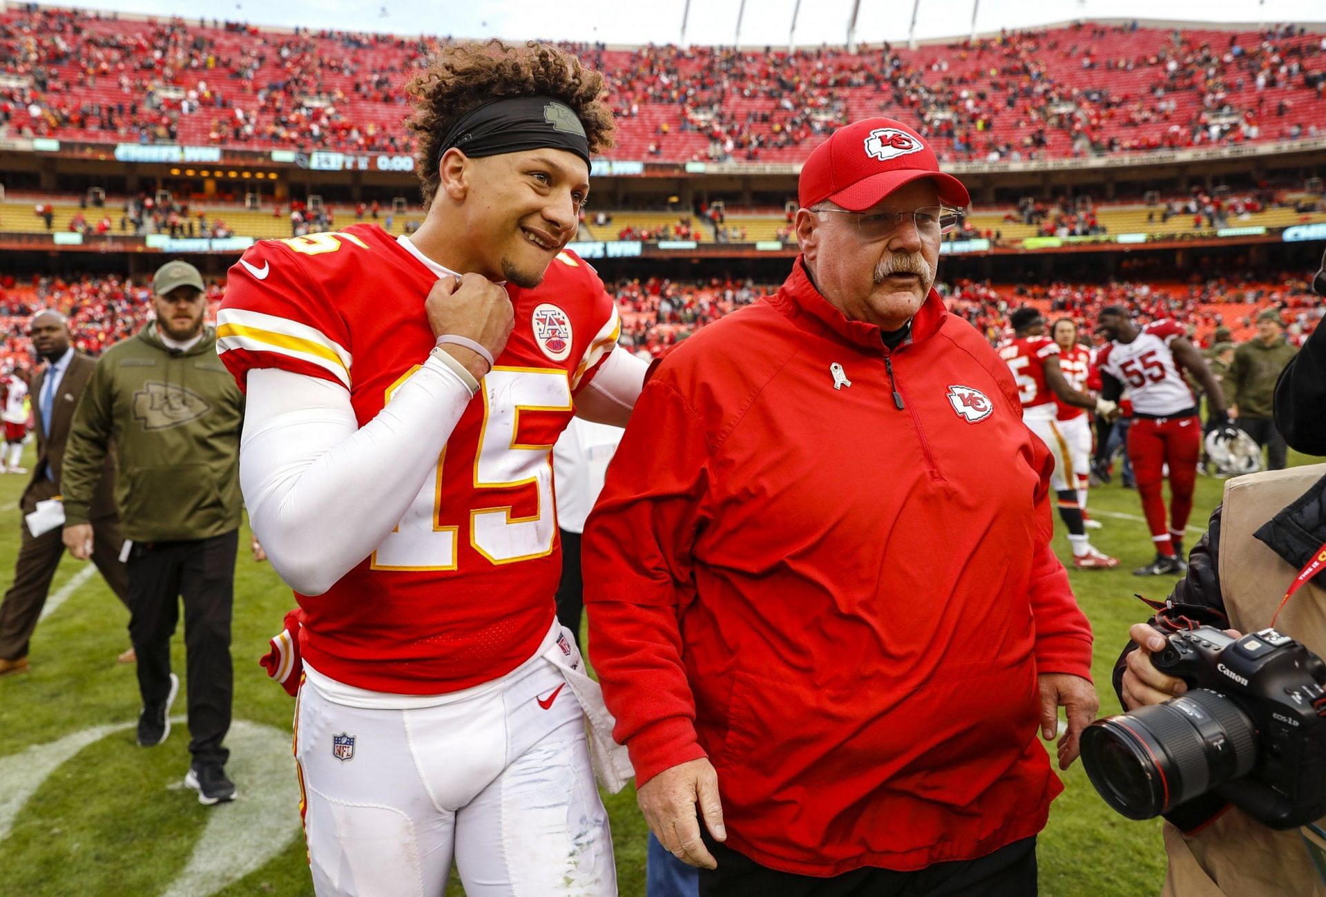
<instances>
[{"instance_id":1,"label":"bearded man in olive hoodie, cap and black pants, walking","mask_svg":"<svg viewBox=\"0 0 1326 897\"><path fill-rule=\"evenodd\" d=\"M97 362L69 432L64 542L91 550L88 521L102 461L114 444L115 505L129 562L129 637L143 708L138 743L170 734L179 678L170 640L184 599L188 729L184 783L199 802L235 798L221 741L231 725L231 606L240 526L239 449L244 399L203 323L203 278L183 261L152 280L156 319Z\"/></svg>"}]
</instances>

